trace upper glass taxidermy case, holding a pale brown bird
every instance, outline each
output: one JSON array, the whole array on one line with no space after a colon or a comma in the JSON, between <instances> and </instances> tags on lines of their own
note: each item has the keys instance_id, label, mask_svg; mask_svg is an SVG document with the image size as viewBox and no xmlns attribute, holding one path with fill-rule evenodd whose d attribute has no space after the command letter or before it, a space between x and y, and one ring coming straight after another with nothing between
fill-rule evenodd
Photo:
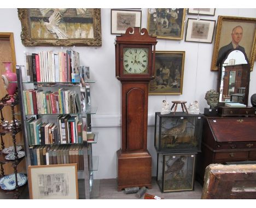
<instances>
[{"instance_id":1,"label":"upper glass taxidermy case, holding a pale brown bird","mask_svg":"<svg viewBox=\"0 0 256 208\"><path fill-rule=\"evenodd\" d=\"M155 148L158 152L199 152L202 114L155 113Z\"/></svg>"}]
</instances>

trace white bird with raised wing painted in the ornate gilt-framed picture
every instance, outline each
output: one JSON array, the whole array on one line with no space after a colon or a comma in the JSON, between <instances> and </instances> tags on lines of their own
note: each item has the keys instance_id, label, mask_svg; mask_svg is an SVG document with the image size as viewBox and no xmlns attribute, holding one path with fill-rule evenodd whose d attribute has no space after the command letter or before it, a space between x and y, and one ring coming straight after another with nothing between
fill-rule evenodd
<instances>
[{"instance_id":1,"label":"white bird with raised wing painted in the ornate gilt-framed picture","mask_svg":"<svg viewBox=\"0 0 256 208\"><path fill-rule=\"evenodd\" d=\"M68 35L59 28L61 14L59 10L54 10L54 13L49 17L49 22L44 22L50 33L55 33L59 39L68 39Z\"/></svg>"}]
</instances>

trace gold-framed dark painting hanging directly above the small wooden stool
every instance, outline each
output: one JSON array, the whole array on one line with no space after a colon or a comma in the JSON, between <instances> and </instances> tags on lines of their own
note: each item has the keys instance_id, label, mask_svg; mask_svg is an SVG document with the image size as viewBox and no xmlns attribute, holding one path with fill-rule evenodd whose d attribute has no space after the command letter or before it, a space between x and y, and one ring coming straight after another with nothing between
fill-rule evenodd
<instances>
[{"instance_id":1,"label":"gold-framed dark painting hanging directly above the small wooden stool","mask_svg":"<svg viewBox=\"0 0 256 208\"><path fill-rule=\"evenodd\" d=\"M156 51L155 79L149 82L149 95L181 95L185 51Z\"/></svg>"}]
</instances>

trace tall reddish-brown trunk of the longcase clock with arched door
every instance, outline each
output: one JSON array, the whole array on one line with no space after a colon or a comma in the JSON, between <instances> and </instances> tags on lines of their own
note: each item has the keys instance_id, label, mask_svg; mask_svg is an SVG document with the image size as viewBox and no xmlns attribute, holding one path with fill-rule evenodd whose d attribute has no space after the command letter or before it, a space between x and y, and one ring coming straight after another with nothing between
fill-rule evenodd
<instances>
[{"instance_id":1,"label":"tall reddish-brown trunk of the longcase clock with arched door","mask_svg":"<svg viewBox=\"0 0 256 208\"><path fill-rule=\"evenodd\" d=\"M126 109L124 108L122 112L122 125L125 126L122 133L122 149L144 151L147 149L148 84L123 83L123 90Z\"/></svg>"}]
</instances>

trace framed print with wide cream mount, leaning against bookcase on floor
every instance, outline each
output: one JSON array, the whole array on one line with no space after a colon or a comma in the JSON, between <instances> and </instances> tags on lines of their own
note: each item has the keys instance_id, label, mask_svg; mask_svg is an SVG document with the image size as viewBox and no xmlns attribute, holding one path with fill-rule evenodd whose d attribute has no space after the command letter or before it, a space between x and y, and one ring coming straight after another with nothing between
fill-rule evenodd
<instances>
[{"instance_id":1,"label":"framed print with wide cream mount, leaning against bookcase on floor","mask_svg":"<svg viewBox=\"0 0 256 208\"><path fill-rule=\"evenodd\" d=\"M77 164L28 166L30 199L78 199Z\"/></svg>"}]
</instances>

